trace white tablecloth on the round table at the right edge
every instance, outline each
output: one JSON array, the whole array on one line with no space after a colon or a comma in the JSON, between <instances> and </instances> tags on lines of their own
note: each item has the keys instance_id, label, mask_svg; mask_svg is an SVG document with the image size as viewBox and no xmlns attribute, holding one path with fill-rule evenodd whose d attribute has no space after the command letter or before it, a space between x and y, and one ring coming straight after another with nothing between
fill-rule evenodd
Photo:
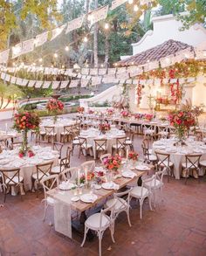
<instances>
[{"instance_id":1,"label":"white tablecloth on the round table at the right edge","mask_svg":"<svg viewBox=\"0 0 206 256\"><path fill-rule=\"evenodd\" d=\"M202 154L201 160L206 159L206 145L203 142L187 141L187 146L174 146L174 139L161 139L153 143L154 150L170 155L170 162L174 163L174 175L176 179L180 179L182 173L182 163L185 162L185 155ZM203 170L201 170L203 175Z\"/></svg>"}]
</instances>

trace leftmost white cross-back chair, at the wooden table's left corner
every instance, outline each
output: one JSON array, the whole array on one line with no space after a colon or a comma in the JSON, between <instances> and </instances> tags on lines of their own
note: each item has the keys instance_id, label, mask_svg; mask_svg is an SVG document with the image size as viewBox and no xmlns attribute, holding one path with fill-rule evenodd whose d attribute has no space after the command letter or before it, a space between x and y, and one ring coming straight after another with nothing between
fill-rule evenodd
<instances>
[{"instance_id":1,"label":"leftmost white cross-back chair, at the wooden table's left corner","mask_svg":"<svg viewBox=\"0 0 206 256\"><path fill-rule=\"evenodd\" d=\"M54 187L58 187L59 184L59 180L58 180L58 175L54 174L51 176L47 176L45 178L43 178L40 183L43 186L44 192L45 192L45 198L42 200L42 202L45 202L45 213L44 213L44 218L43 221L45 221L45 216L46 216L46 212L48 209L48 206L52 206L54 205L54 199L52 197L49 197L46 192L49 190L52 190Z\"/></svg>"}]
</instances>

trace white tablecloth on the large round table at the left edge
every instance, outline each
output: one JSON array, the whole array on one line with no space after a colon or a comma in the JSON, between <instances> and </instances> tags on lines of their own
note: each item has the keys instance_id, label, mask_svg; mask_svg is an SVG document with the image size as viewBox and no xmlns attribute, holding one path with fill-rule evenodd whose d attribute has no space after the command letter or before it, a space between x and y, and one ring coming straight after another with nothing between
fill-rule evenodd
<instances>
[{"instance_id":1,"label":"white tablecloth on the large round table at the left edge","mask_svg":"<svg viewBox=\"0 0 206 256\"><path fill-rule=\"evenodd\" d=\"M20 176L24 177L25 190L31 190L31 176L36 172L37 164L53 161L53 166L58 165L58 151L39 146L34 146L32 150L35 153L32 157L20 158L17 154L18 149L3 151L0 154L0 169L20 168Z\"/></svg>"}]
</instances>

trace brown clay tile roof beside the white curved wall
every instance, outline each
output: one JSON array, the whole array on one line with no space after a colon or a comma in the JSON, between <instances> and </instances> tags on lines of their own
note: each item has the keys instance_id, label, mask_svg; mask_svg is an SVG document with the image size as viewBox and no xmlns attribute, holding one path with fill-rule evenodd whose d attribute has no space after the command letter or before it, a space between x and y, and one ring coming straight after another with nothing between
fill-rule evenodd
<instances>
[{"instance_id":1,"label":"brown clay tile roof beside the white curved wall","mask_svg":"<svg viewBox=\"0 0 206 256\"><path fill-rule=\"evenodd\" d=\"M132 57L120 60L117 64L118 66L140 66L146 64L147 61L160 60L161 58L188 49L189 47L190 51L194 50L191 45L170 39L161 45L156 45L155 47L148 49L145 52L140 52Z\"/></svg>"}]
</instances>

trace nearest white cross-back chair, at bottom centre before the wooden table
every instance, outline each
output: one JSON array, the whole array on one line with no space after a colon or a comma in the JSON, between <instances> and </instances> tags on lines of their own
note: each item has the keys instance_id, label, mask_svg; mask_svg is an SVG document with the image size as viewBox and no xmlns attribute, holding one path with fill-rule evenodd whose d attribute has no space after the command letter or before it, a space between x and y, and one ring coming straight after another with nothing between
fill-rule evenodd
<instances>
[{"instance_id":1,"label":"nearest white cross-back chair, at bottom centre before the wooden table","mask_svg":"<svg viewBox=\"0 0 206 256\"><path fill-rule=\"evenodd\" d=\"M104 210L101 210L100 213L95 213L91 215L89 218L86 219L85 222L85 235L83 242L81 244L81 247L84 246L86 241L86 234L89 230L93 230L97 232L97 235L99 237L99 255L101 256L101 239L103 237L104 232L107 228L110 229L111 237L113 240L113 243L115 242L113 239L113 232L114 232L114 205L116 204L116 200L113 201L113 204L109 207L107 207ZM106 212L110 211L110 216L106 215Z\"/></svg>"}]
</instances>

